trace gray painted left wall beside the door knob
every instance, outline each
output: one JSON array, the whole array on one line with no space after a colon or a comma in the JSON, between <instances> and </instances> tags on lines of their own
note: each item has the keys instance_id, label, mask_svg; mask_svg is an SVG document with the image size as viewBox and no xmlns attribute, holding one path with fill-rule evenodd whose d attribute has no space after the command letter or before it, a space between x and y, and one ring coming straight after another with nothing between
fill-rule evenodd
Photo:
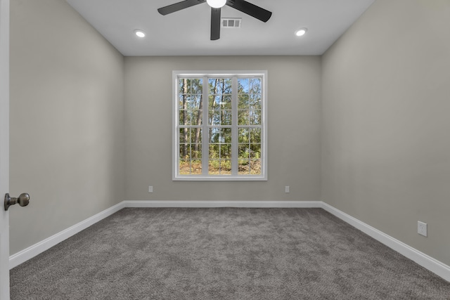
<instances>
[{"instance_id":1,"label":"gray painted left wall beside the door knob","mask_svg":"<svg viewBox=\"0 0 450 300\"><path fill-rule=\"evenodd\" d=\"M11 254L124 200L123 82L64 0L11 0Z\"/></svg>"}]
</instances>

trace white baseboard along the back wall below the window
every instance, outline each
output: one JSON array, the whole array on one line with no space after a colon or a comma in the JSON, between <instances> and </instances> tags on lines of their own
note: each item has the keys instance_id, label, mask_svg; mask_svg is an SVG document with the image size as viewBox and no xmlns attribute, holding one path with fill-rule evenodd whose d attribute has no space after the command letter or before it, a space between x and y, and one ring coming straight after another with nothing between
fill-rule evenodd
<instances>
[{"instance_id":1,"label":"white baseboard along the back wall below the window","mask_svg":"<svg viewBox=\"0 0 450 300\"><path fill-rule=\"evenodd\" d=\"M124 201L125 207L321 208L321 201Z\"/></svg>"}]
</instances>

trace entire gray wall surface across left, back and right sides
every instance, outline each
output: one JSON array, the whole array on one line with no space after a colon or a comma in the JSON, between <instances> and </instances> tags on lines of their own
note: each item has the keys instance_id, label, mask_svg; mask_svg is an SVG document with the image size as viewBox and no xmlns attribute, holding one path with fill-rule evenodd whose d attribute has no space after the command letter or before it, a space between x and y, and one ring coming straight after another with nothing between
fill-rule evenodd
<instances>
[{"instance_id":1,"label":"entire gray wall surface across left, back and right sides","mask_svg":"<svg viewBox=\"0 0 450 300\"><path fill-rule=\"evenodd\" d=\"M377 0L323 58L124 59L64 0L11 0L11 254L122 200L323 200L450 265L448 15ZM172 70L269 71L269 181L172 181Z\"/></svg>"}]
</instances>

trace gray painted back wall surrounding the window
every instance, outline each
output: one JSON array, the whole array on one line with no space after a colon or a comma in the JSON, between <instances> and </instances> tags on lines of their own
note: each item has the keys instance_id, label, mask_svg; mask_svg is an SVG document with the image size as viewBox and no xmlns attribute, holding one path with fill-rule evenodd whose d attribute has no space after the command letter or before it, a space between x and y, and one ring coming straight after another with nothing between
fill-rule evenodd
<instances>
[{"instance_id":1,"label":"gray painted back wall surrounding the window","mask_svg":"<svg viewBox=\"0 0 450 300\"><path fill-rule=\"evenodd\" d=\"M268 71L268 181L172 181L173 70ZM319 57L125 58L127 200L319 200L320 80Z\"/></svg>"}]
</instances>

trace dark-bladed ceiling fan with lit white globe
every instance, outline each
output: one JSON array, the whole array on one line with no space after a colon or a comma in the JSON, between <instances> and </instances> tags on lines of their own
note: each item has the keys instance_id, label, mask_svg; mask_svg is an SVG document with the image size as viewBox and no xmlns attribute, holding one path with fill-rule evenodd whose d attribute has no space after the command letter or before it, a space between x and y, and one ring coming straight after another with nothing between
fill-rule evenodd
<instances>
[{"instance_id":1,"label":"dark-bladed ceiling fan with lit white globe","mask_svg":"<svg viewBox=\"0 0 450 300\"><path fill-rule=\"evenodd\" d=\"M250 2L245 0L184 0L176 4L158 8L158 12L161 15L167 15L169 13L181 11L184 8L188 8L197 4L203 4L205 2L207 2L207 4L211 6L212 41L220 38L220 9L225 5L251 15L253 18L262 20L262 22L267 22L272 15L270 11L266 11L264 8L260 8L259 6L251 4Z\"/></svg>"}]
</instances>

